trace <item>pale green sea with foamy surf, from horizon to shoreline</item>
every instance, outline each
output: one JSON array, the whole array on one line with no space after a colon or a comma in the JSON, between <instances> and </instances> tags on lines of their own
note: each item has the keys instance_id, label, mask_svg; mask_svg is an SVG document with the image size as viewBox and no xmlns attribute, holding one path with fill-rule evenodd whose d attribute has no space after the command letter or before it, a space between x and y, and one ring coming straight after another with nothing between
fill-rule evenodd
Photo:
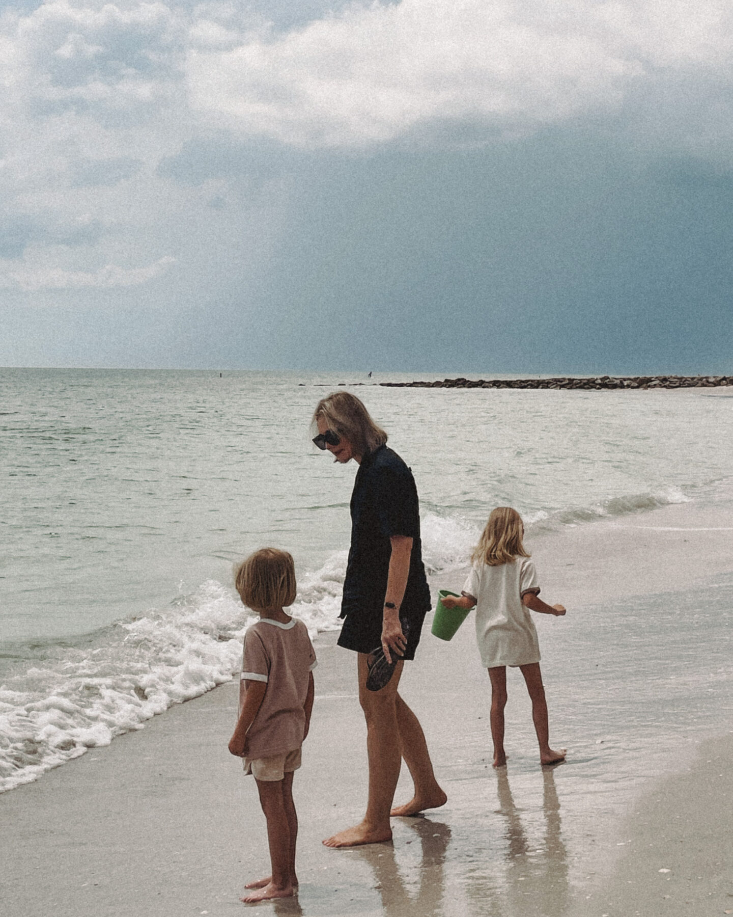
<instances>
[{"instance_id":1,"label":"pale green sea with foamy surf, from horizon to shoreline","mask_svg":"<svg viewBox=\"0 0 733 917\"><path fill-rule=\"evenodd\" d=\"M310 430L338 387L413 470L430 572L464 565L498 504L532 534L733 496L725 392L376 384L408 378L0 370L0 790L230 679L250 620L232 568L257 547L292 553L313 635L339 626L356 465L334 466ZM700 624L703 646L714 633ZM621 657L637 638L614 632ZM713 688L685 676L701 716L723 668ZM636 687L647 715L655 685Z\"/></svg>"}]
</instances>

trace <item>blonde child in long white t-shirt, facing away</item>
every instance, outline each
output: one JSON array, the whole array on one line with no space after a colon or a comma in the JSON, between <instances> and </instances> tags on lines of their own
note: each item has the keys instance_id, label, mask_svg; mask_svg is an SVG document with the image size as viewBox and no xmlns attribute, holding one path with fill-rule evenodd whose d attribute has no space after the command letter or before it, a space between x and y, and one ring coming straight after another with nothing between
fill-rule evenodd
<instances>
[{"instance_id":1,"label":"blonde child in long white t-shirt, facing away","mask_svg":"<svg viewBox=\"0 0 733 917\"><path fill-rule=\"evenodd\" d=\"M550 747L547 703L540 672L540 646L530 613L564 614L563 605L547 605L538 597L537 573L521 539L520 514L509 506L491 511L471 558L472 569L462 597L446 596L446 608L476 605L476 639L482 665L491 679L491 737L494 767L507 763L504 753L504 707L507 703L507 666L519 666L532 702L532 720L540 743L540 762L554 764L565 749Z\"/></svg>"}]
</instances>

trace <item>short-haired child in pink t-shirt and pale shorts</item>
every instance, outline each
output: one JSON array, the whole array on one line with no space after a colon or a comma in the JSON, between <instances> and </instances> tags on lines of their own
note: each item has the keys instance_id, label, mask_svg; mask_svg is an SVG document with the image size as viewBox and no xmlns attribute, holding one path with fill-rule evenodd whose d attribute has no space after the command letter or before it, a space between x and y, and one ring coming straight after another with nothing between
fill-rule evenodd
<instances>
[{"instance_id":1,"label":"short-haired child in pink t-shirt and pale shorts","mask_svg":"<svg viewBox=\"0 0 733 917\"><path fill-rule=\"evenodd\" d=\"M290 554L274 547L256 551L236 571L236 591L259 621L245 635L239 719L229 751L244 757L245 773L257 781L272 866L268 878L246 885L255 889L242 898L246 904L290 898L298 888L292 776L311 724L316 660L305 624L283 611L295 601L295 588Z\"/></svg>"}]
</instances>

